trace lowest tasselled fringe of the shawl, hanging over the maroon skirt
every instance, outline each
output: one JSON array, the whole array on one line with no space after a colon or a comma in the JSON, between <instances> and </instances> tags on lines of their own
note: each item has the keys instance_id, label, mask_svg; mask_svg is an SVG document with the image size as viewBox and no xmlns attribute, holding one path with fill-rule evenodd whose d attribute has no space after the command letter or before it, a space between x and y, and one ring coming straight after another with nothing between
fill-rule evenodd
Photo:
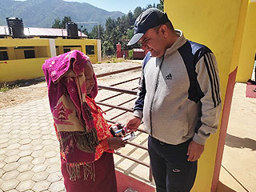
<instances>
[{"instance_id":1,"label":"lowest tasselled fringe of the shawl, hanging over the maroon skirt","mask_svg":"<svg viewBox=\"0 0 256 192\"><path fill-rule=\"evenodd\" d=\"M76 181L81 178L81 169L83 171L83 179L87 180L90 175L90 179L95 182L95 167L94 162L86 162L86 164L82 163L70 163L66 164L66 170L70 175L70 181Z\"/></svg>"}]
</instances>

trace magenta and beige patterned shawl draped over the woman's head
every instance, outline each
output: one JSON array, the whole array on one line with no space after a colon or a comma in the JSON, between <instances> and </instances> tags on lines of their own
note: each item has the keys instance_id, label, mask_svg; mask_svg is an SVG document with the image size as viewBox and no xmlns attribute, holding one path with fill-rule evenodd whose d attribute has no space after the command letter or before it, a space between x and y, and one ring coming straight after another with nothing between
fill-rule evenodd
<instances>
[{"instance_id":1,"label":"magenta and beige patterned shawl draped over the woman's head","mask_svg":"<svg viewBox=\"0 0 256 192\"><path fill-rule=\"evenodd\" d=\"M76 150L83 150L87 154L84 153L81 159L86 162L92 161L98 137L90 106L86 103L86 70L92 70L90 58L79 50L72 50L47 59L42 69L48 86L50 110L58 133L81 132L79 137L77 134L71 134L73 138L70 136L70 139L77 143L77 146L72 146L73 153ZM94 81L95 85L90 93L92 98L98 93L95 74ZM69 142L62 142L63 145L67 143ZM67 162L80 161L72 154L67 154L66 158Z\"/></svg>"}]
</instances>

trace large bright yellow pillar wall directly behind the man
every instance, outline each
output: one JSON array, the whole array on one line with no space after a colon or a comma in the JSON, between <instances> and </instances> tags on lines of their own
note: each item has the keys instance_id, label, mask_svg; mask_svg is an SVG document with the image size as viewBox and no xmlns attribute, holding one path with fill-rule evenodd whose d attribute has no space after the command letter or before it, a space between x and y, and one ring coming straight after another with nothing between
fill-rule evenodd
<instances>
[{"instance_id":1,"label":"large bright yellow pillar wall directly behind the man","mask_svg":"<svg viewBox=\"0 0 256 192\"><path fill-rule=\"evenodd\" d=\"M183 31L186 38L202 43L214 52L221 81L222 104L230 72L238 66L239 48L246 13L247 1L193 0L165 1L164 8L174 28ZM233 64L232 64L233 63ZM198 175L192 191L211 190L215 158L218 149L219 128L206 142L206 149L198 161Z\"/></svg>"}]
</instances>

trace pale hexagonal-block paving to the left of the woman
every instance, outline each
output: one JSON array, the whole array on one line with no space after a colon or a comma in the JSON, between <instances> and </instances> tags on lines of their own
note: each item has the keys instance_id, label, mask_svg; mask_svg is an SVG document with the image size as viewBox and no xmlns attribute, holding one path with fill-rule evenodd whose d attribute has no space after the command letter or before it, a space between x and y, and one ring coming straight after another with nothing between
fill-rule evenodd
<instances>
[{"instance_id":1,"label":"pale hexagonal-block paving to the left of the woman","mask_svg":"<svg viewBox=\"0 0 256 192\"><path fill-rule=\"evenodd\" d=\"M63 191L48 99L0 110L0 191Z\"/></svg>"}]
</instances>

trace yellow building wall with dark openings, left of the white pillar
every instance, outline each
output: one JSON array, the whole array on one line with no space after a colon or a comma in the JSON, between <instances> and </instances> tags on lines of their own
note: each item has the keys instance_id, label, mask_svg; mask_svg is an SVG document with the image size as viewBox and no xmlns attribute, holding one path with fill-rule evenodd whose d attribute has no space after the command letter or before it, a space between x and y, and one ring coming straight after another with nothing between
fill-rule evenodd
<instances>
[{"instance_id":1,"label":"yellow building wall with dark openings, left of the white pillar","mask_svg":"<svg viewBox=\"0 0 256 192\"><path fill-rule=\"evenodd\" d=\"M0 61L0 83L42 77L42 64L50 58L48 39L0 39L0 46L7 47L9 60ZM34 46L34 49L15 49L18 46ZM24 50L34 50L37 58L24 58Z\"/></svg>"}]
</instances>

